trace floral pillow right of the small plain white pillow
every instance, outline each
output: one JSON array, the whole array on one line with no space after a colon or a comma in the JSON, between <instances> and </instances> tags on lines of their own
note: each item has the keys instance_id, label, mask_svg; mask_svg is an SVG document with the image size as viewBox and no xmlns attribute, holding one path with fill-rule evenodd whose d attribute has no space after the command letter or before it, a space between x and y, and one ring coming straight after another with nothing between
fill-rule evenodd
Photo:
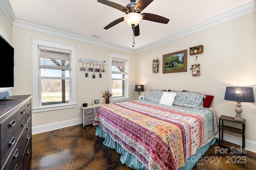
<instances>
[{"instance_id":1,"label":"floral pillow right of the small plain white pillow","mask_svg":"<svg viewBox=\"0 0 256 170\"><path fill-rule=\"evenodd\" d=\"M203 99L206 95L189 91L170 91L170 93L177 93L173 105L186 107L203 107Z\"/></svg>"}]
</instances>

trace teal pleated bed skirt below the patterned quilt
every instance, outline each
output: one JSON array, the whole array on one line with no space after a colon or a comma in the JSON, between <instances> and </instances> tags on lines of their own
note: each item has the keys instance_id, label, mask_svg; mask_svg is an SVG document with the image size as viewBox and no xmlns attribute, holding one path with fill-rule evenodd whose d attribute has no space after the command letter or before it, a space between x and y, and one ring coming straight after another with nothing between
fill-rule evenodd
<instances>
[{"instance_id":1,"label":"teal pleated bed skirt below the patterned quilt","mask_svg":"<svg viewBox=\"0 0 256 170\"><path fill-rule=\"evenodd\" d=\"M137 160L135 156L124 150L118 142L112 140L110 135L103 130L103 128L99 125L96 126L96 136L99 136L100 138L105 138L103 144L107 146L108 148L112 148L116 150L117 153L121 154L120 161L122 164L125 164L129 168L136 169L136 170L146 170L147 168ZM216 138L212 139L208 144L205 146L202 146L196 151L196 154L193 156L190 156L186 164L179 168L179 170L191 170L196 162L201 158L201 156L209 149L211 145L213 145L216 141Z\"/></svg>"}]
</instances>

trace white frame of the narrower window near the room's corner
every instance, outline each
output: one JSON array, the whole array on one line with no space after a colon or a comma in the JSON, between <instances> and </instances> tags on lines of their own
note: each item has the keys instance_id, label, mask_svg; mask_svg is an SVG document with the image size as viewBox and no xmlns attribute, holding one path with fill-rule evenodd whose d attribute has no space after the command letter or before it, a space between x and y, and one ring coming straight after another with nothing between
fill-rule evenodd
<instances>
[{"instance_id":1,"label":"white frame of the narrower window near the room's corner","mask_svg":"<svg viewBox=\"0 0 256 170\"><path fill-rule=\"evenodd\" d=\"M112 89L112 59L119 59L127 61L127 75L125 80L125 87L124 87L124 97L112 97L112 102L121 102L121 101L129 101L130 100L130 57L115 53L109 53L109 89Z\"/></svg>"}]
</instances>

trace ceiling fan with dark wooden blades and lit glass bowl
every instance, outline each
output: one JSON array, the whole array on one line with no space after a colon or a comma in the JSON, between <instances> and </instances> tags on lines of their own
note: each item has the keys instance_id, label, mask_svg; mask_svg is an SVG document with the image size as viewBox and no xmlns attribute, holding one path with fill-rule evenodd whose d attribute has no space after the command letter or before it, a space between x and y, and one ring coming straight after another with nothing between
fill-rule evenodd
<instances>
[{"instance_id":1,"label":"ceiling fan with dark wooden blades and lit glass bowl","mask_svg":"<svg viewBox=\"0 0 256 170\"><path fill-rule=\"evenodd\" d=\"M141 20L148 20L148 21L167 24L169 22L168 18L164 18L162 16L158 16L156 14L150 14L150 13L140 14L140 12L144 10L144 8L146 8L152 1L153 0L139 0L136 3L136 0L130 0L130 3L124 7L120 4L117 4L115 2L111 2L108 0L97 0L97 2L111 6L113 8L116 8L126 13L126 16L122 18L118 18L117 20L114 20L113 22L108 24L106 27L104 27L104 29L108 30L112 26L115 26L116 24L122 21L125 21L129 26L132 27L134 36L139 36L140 35L139 23L141 22Z\"/></svg>"}]
</instances>

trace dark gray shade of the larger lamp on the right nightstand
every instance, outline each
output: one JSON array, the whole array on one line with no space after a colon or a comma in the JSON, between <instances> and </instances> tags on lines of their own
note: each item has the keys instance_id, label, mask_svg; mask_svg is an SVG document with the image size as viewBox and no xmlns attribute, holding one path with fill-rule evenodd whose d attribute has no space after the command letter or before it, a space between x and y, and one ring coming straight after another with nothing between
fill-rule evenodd
<instances>
[{"instance_id":1,"label":"dark gray shade of the larger lamp on the right nightstand","mask_svg":"<svg viewBox=\"0 0 256 170\"><path fill-rule=\"evenodd\" d=\"M254 102L252 87L226 87L225 100Z\"/></svg>"}]
</instances>

